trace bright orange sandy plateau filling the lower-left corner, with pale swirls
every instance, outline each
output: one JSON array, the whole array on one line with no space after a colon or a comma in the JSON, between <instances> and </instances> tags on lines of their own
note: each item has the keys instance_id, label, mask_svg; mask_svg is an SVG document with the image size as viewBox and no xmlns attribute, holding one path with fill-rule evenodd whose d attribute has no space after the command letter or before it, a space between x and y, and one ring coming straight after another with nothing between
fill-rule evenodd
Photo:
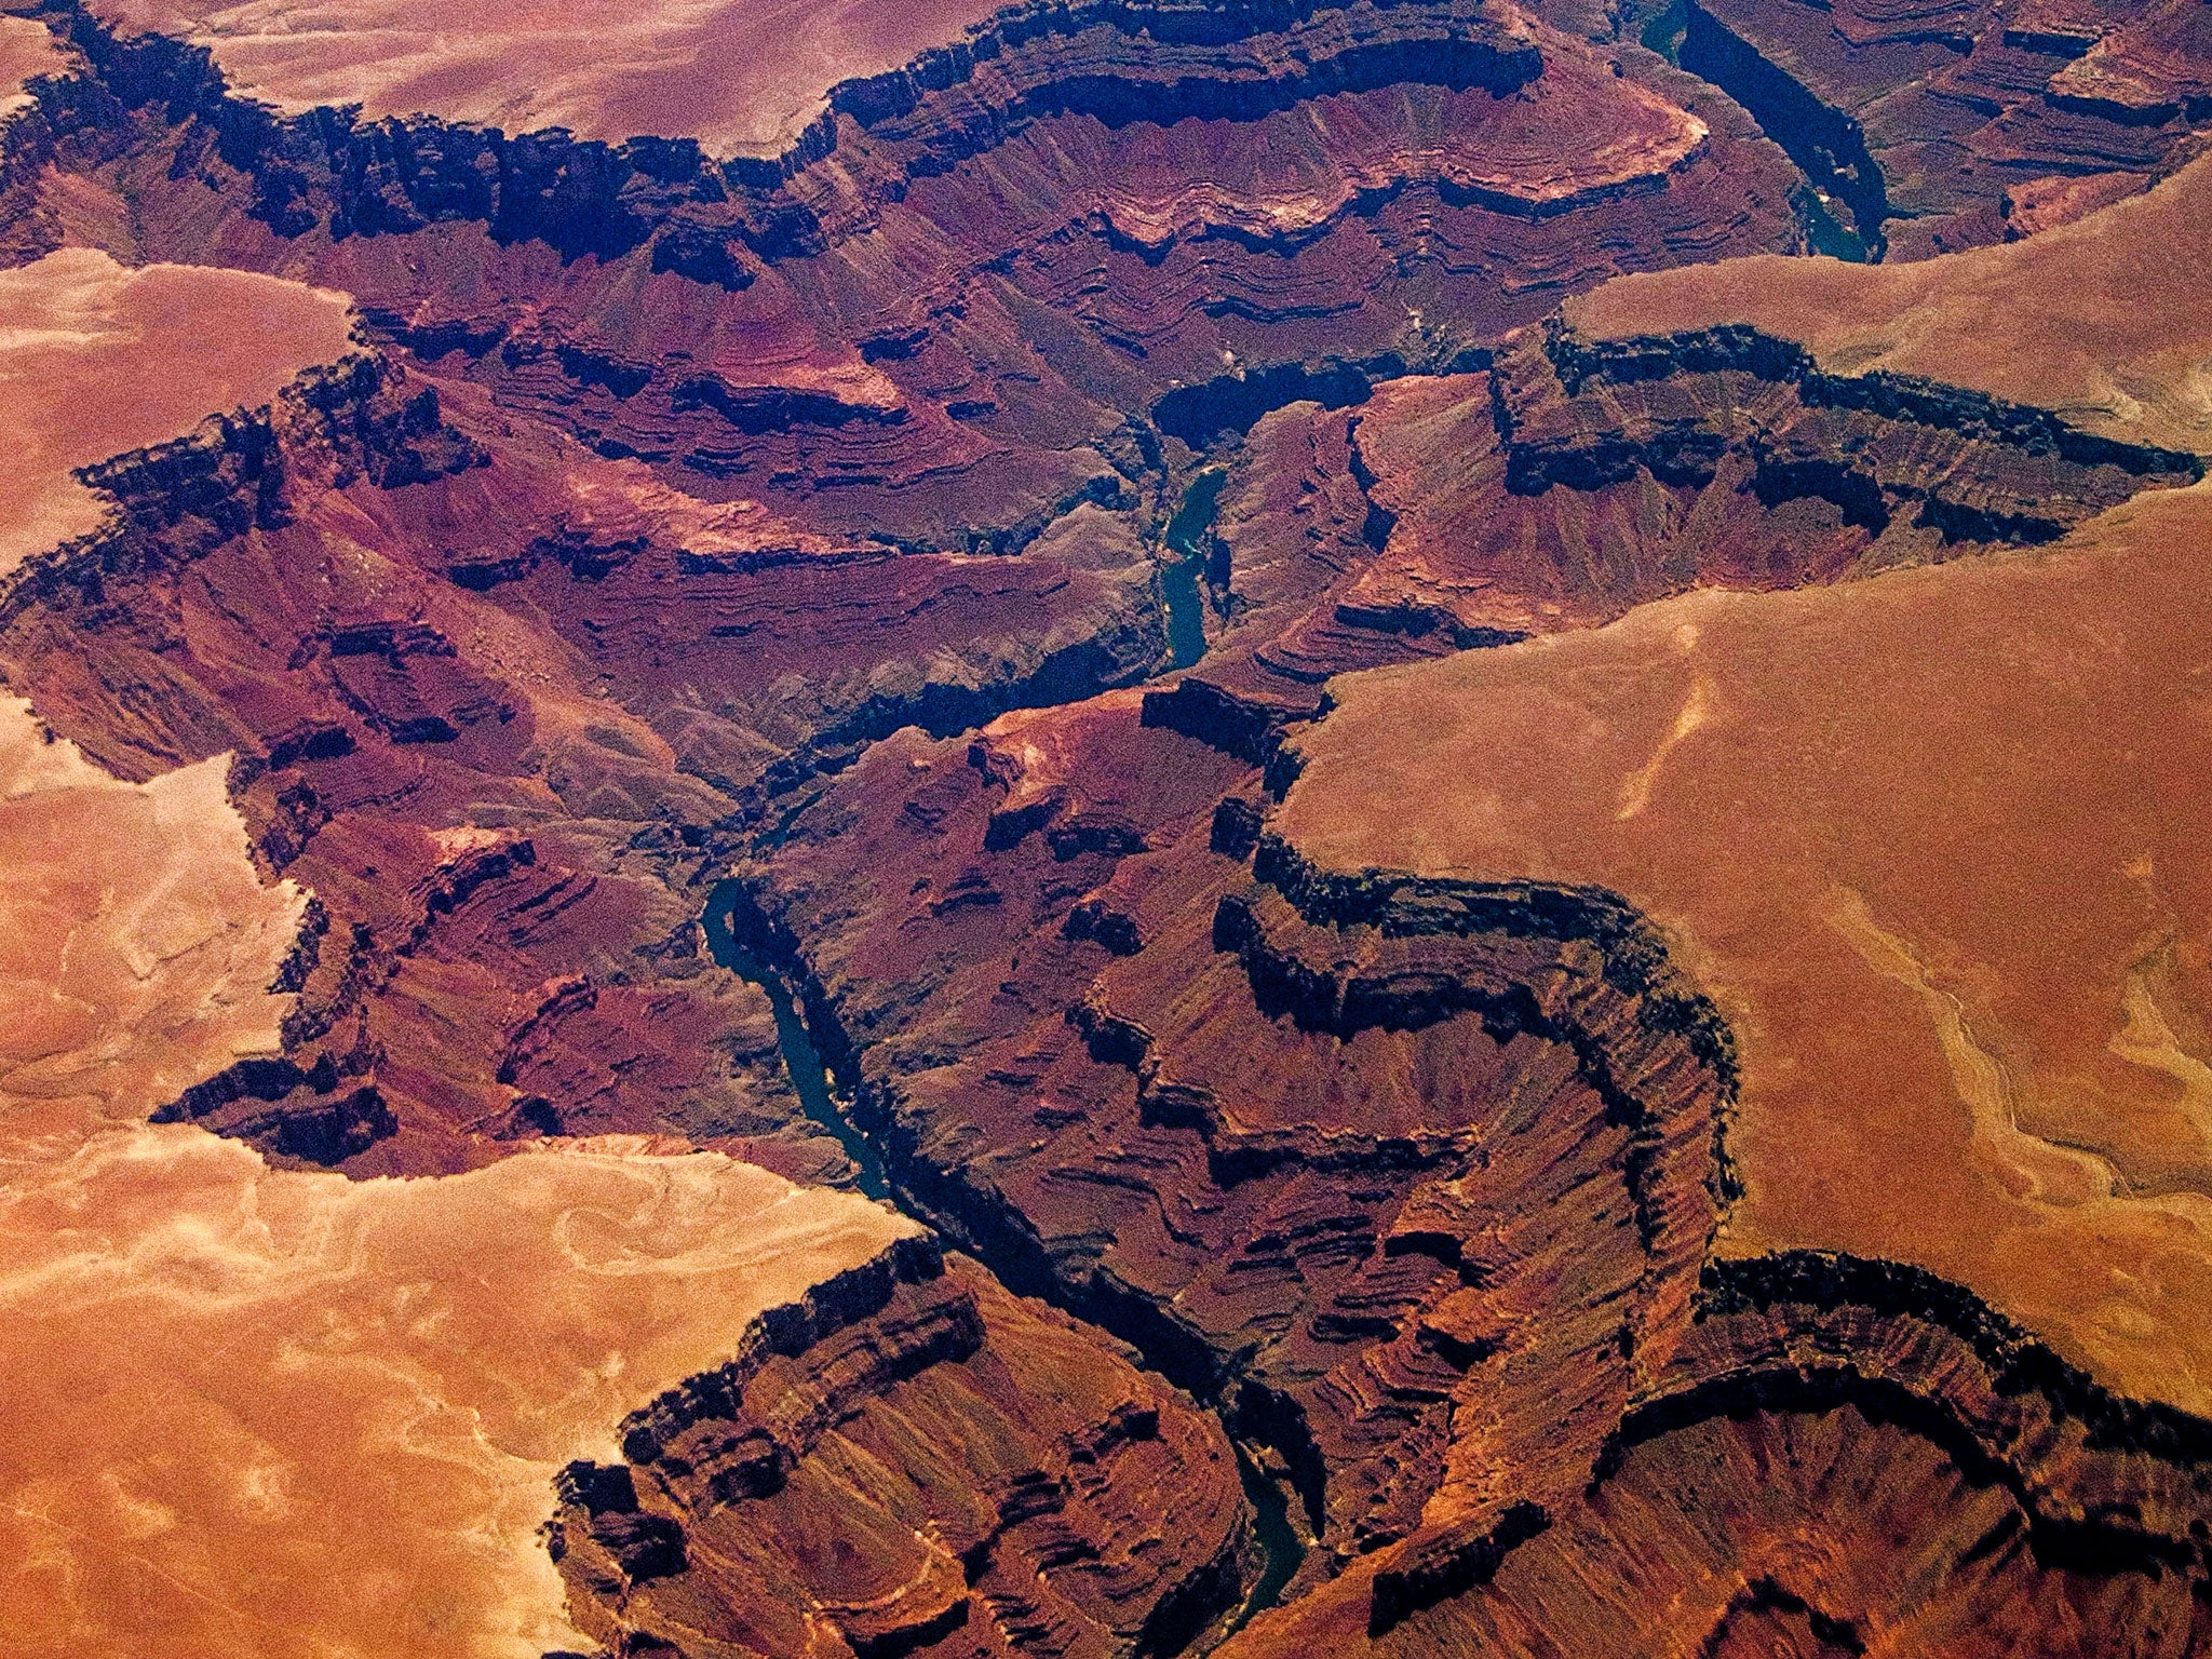
<instances>
[{"instance_id":1,"label":"bright orange sandy plateau filling the lower-left corner, with pale swirls","mask_svg":"<svg viewBox=\"0 0 2212 1659\"><path fill-rule=\"evenodd\" d=\"M646 1141L349 1181L133 1121L290 1006L305 896L226 772L117 783L0 703L0 1650L575 1641L557 1467L916 1228Z\"/></svg>"}]
</instances>

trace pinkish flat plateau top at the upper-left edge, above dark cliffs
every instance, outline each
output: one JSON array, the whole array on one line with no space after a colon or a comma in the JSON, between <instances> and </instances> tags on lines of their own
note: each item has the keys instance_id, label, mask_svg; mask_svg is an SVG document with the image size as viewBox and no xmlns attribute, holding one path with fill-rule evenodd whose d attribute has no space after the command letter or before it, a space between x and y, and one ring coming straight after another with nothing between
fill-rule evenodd
<instances>
[{"instance_id":1,"label":"pinkish flat plateau top at the upper-left edge, above dark cliffs","mask_svg":"<svg viewBox=\"0 0 2212 1659\"><path fill-rule=\"evenodd\" d=\"M232 88L305 111L383 115L577 137L695 137L714 155L779 155L854 75L898 69L998 11L993 0L97 0L128 31L215 51Z\"/></svg>"}]
</instances>

